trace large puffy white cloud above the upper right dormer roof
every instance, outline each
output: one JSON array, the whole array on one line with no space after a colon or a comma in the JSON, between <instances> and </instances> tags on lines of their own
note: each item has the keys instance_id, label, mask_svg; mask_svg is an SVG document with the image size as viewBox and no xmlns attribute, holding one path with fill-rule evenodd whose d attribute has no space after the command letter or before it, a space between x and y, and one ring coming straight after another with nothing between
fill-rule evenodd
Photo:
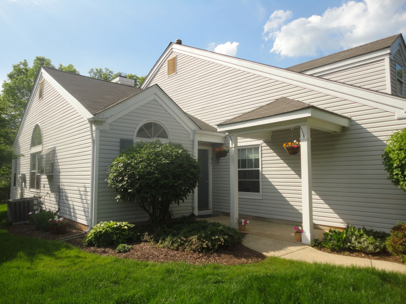
<instances>
[{"instance_id":1,"label":"large puffy white cloud above the upper right dormer roof","mask_svg":"<svg viewBox=\"0 0 406 304\"><path fill-rule=\"evenodd\" d=\"M290 11L275 11L264 25L264 39L275 39L270 52L282 57L316 56L406 33L405 0L347 1L322 16L286 23L290 17Z\"/></svg>"}]
</instances>

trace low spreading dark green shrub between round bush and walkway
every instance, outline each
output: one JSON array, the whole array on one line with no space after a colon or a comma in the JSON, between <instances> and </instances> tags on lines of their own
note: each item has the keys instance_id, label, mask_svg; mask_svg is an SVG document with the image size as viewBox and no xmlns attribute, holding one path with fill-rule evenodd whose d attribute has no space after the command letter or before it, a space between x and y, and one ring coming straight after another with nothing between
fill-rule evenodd
<instances>
[{"instance_id":1,"label":"low spreading dark green shrub between round bush and walkway","mask_svg":"<svg viewBox=\"0 0 406 304\"><path fill-rule=\"evenodd\" d=\"M207 220L182 218L174 226L158 227L144 234L144 241L183 251L213 252L241 243L244 235L227 225Z\"/></svg>"}]
</instances>

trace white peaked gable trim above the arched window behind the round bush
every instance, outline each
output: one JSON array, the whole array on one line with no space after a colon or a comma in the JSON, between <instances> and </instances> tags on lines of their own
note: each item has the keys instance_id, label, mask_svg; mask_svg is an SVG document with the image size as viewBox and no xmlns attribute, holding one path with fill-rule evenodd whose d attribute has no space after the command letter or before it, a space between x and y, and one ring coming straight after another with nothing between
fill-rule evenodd
<instances>
[{"instance_id":1,"label":"white peaked gable trim above the arched window behind the round bush","mask_svg":"<svg viewBox=\"0 0 406 304\"><path fill-rule=\"evenodd\" d=\"M193 139L194 131L200 131L200 128L169 96L166 95L166 93L158 85L149 87L144 91L131 96L100 113L97 113L96 117L106 119L106 123L108 125L152 100L156 100L160 105L162 105L162 107L188 131L190 134L190 139ZM108 130L108 127L105 127L104 130Z\"/></svg>"}]
</instances>

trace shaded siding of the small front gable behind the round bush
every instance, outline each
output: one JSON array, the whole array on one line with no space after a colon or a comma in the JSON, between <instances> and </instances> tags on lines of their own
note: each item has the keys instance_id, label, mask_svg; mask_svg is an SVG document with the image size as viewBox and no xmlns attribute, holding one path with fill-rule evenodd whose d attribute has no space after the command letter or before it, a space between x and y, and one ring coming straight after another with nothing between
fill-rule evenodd
<instances>
[{"instance_id":1,"label":"shaded siding of the small front gable behind the round bush","mask_svg":"<svg viewBox=\"0 0 406 304\"><path fill-rule=\"evenodd\" d=\"M150 101L110 123L109 131L100 131L97 221L115 220L140 222L148 220L147 213L138 205L117 202L116 192L105 180L108 167L120 153L120 138L133 139L140 123L147 119L162 122L170 131L172 142L181 143L190 154L193 140L189 133L157 101ZM176 217L193 212L193 197L180 205L172 205Z\"/></svg>"}]
</instances>

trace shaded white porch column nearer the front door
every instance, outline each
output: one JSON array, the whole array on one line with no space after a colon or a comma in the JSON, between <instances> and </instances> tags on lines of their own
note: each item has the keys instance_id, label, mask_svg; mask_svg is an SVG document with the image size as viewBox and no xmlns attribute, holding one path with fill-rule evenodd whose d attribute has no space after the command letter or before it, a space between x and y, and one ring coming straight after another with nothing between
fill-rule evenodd
<instances>
[{"instance_id":1,"label":"shaded white porch column nearer the front door","mask_svg":"<svg viewBox=\"0 0 406 304\"><path fill-rule=\"evenodd\" d=\"M235 218L238 217L238 135L231 136L230 142L230 222L238 229Z\"/></svg>"}]
</instances>

